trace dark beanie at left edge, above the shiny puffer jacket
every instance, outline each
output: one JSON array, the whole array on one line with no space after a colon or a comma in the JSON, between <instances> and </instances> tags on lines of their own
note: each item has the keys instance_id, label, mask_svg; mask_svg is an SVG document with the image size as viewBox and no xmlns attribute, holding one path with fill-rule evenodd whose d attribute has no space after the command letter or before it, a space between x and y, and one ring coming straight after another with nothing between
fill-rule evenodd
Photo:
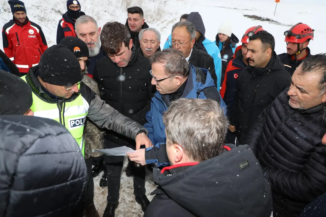
<instances>
[{"instance_id":1,"label":"dark beanie at left edge, above the shiny puffer jacket","mask_svg":"<svg viewBox=\"0 0 326 217\"><path fill-rule=\"evenodd\" d=\"M32 90L16 75L0 70L0 115L22 115L33 104Z\"/></svg>"}]
</instances>

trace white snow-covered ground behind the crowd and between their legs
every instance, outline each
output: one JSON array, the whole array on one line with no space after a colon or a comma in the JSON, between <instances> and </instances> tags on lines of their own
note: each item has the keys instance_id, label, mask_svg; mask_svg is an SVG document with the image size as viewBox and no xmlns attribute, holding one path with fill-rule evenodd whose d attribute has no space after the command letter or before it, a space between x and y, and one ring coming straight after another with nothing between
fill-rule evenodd
<instances>
[{"instance_id":1,"label":"white snow-covered ground behind the crowd and between their legs","mask_svg":"<svg viewBox=\"0 0 326 217\"><path fill-rule=\"evenodd\" d=\"M48 45L56 43L56 30L62 13L66 12L65 0L24 0L28 18L39 24L47 39ZM326 22L323 14L326 11L325 0L281 0L274 16L274 0L80 0L82 11L93 16L100 26L109 21L126 22L126 8L140 6L144 10L145 22L161 33L161 48L171 32L171 27L179 21L182 14L198 11L206 27L206 37L215 40L219 25L229 20L233 23L233 33L241 39L245 30L254 25L261 25L275 37L276 53L286 51L284 31L289 25L298 22L307 23L315 29L315 40L309 48L312 54L326 52ZM257 15L270 18L285 25L251 20L244 15ZM7 0L0 0L0 25L12 19ZM0 39L2 49L2 37ZM121 187L117 217L142 216L141 206L136 203L133 195L132 177L126 177L126 163L121 174ZM106 206L107 188L99 187L102 173L94 181L96 208L102 216ZM146 194L155 189L151 174L146 176ZM151 200L153 196L148 196Z\"/></svg>"}]
</instances>

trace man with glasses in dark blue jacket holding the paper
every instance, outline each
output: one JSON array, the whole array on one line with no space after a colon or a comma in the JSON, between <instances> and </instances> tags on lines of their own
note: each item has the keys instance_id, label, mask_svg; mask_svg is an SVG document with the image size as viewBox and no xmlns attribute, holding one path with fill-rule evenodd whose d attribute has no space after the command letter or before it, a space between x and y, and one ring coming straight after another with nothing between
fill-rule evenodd
<instances>
[{"instance_id":1,"label":"man with glasses in dark blue jacket holding the paper","mask_svg":"<svg viewBox=\"0 0 326 217\"><path fill-rule=\"evenodd\" d=\"M169 162L162 162L160 159L167 159L166 149L163 147L166 134L162 118L171 102L180 98L213 99L220 104L225 114L226 105L209 71L189 65L182 52L169 48L157 51L150 60L152 84L156 86L157 91L152 98L151 110L146 114L148 123L144 127L148 130L148 137L156 146L140 149L136 145L136 152L127 153L127 156L131 161L141 165L158 162L158 166L168 166Z\"/></svg>"}]
</instances>

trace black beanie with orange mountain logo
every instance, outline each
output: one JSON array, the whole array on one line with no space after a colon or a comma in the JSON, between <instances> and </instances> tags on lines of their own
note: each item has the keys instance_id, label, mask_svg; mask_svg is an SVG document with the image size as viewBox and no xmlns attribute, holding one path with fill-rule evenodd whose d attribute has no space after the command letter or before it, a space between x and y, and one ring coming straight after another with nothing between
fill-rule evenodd
<instances>
[{"instance_id":1,"label":"black beanie with orange mountain logo","mask_svg":"<svg viewBox=\"0 0 326 217\"><path fill-rule=\"evenodd\" d=\"M61 45L67 47L71 52L75 54L77 58L80 57L89 57L89 50L85 42L82 39L74 36L64 37L61 42Z\"/></svg>"}]
</instances>

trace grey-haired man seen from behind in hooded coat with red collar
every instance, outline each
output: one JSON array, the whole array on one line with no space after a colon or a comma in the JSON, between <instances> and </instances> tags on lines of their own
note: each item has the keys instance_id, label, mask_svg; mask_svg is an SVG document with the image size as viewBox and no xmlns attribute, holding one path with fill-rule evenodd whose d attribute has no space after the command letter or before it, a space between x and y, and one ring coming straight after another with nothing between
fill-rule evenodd
<instances>
[{"instance_id":1,"label":"grey-haired man seen from behind in hooded coat with red collar","mask_svg":"<svg viewBox=\"0 0 326 217\"><path fill-rule=\"evenodd\" d=\"M271 186L247 145L224 145L228 123L216 101L173 101L163 123L172 166L153 170L158 187L144 217L270 217Z\"/></svg>"}]
</instances>

